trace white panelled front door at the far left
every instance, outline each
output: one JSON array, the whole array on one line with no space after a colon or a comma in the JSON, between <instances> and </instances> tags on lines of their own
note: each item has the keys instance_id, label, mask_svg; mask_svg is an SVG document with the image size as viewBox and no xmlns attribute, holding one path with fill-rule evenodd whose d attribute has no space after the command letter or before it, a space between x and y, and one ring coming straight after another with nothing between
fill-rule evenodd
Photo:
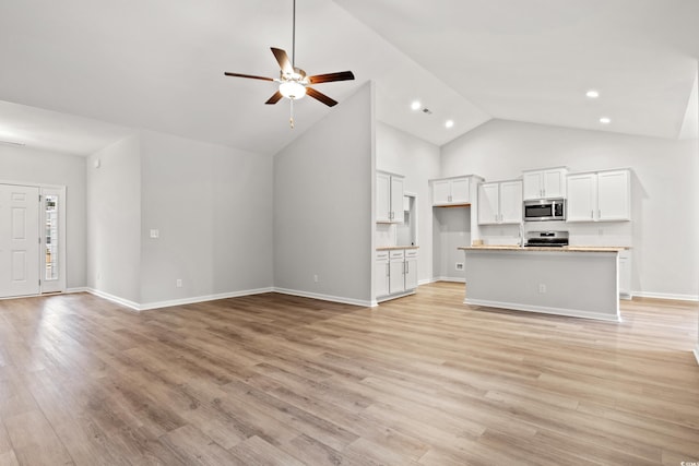
<instances>
[{"instance_id":1,"label":"white panelled front door at the far left","mask_svg":"<svg viewBox=\"0 0 699 466\"><path fill-rule=\"evenodd\" d=\"M39 188L0 184L0 297L38 295Z\"/></svg>"}]
</instances>

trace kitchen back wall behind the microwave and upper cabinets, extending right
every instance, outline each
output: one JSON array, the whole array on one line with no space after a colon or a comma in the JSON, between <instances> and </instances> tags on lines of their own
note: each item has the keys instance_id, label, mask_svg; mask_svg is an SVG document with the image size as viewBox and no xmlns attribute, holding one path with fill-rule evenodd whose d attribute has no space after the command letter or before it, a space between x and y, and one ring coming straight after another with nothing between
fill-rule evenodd
<instances>
[{"instance_id":1,"label":"kitchen back wall behind the microwave and upper cabinets, extending right","mask_svg":"<svg viewBox=\"0 0 699 466\"><path fill-rule=\"evenodd\" d=\"M698 299L698 151L697 140L491 120L442 147L441 175L476 172L489 181L517 178L532 168L567 166L570 171L585 171L629 167L633 171L630 224L565 227L571 235L593 235L602 228L612 241L629 236L635 292Z\"/></svg>"}]
</instances>

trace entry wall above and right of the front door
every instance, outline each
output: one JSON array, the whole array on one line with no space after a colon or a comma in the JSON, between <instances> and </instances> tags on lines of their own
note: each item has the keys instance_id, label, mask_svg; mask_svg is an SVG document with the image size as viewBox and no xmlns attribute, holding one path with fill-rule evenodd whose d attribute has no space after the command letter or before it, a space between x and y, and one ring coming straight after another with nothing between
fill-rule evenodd
<instances>
[{"instance_id":1,"label":"entry wall above and right of the front door","mask_svg":"<svg viewBox=\"0 0 699 466\"><path fill-rule=\"evenodd\" d=\"M85 158L0 144L0 181L66 187L66 286L85 286Z\"/></svg>"}]
</instances>

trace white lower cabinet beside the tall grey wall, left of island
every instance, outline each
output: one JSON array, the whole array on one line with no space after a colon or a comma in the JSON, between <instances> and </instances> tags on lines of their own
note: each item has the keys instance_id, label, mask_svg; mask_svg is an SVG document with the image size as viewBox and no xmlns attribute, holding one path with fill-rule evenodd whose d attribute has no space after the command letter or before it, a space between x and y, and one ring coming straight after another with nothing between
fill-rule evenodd
<instances>
[{"instance_id":1,"label":"white lower cabinet beside the tall grey wall, left of island","mask_svg":"<svg viewBox=\"0 0 699 466\"><path fill-rule=\"evenodd\" d=\"M417 249L377 251L375 255L375 291L378 300L410 295L417 288Z\"/></svg>"}]
</instances>

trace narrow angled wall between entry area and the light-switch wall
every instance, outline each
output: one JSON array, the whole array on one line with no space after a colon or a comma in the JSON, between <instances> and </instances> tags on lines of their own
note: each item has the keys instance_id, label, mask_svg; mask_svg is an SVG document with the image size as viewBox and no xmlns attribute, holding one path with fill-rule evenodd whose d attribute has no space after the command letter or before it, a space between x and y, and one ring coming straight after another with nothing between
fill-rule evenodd
<instances>
[{"instance_id":1,"label":"narrow angled wall between entry area and the light-switch wall","mask_svg":"<svg viewBox=\"0 0 699 466\"><path fill-rule=\"evenodd\" d=\"M95 167L99 160L99 167ZM141 138L87 157L87 287L141 300Z\"/></svg>"}]
</instances>

